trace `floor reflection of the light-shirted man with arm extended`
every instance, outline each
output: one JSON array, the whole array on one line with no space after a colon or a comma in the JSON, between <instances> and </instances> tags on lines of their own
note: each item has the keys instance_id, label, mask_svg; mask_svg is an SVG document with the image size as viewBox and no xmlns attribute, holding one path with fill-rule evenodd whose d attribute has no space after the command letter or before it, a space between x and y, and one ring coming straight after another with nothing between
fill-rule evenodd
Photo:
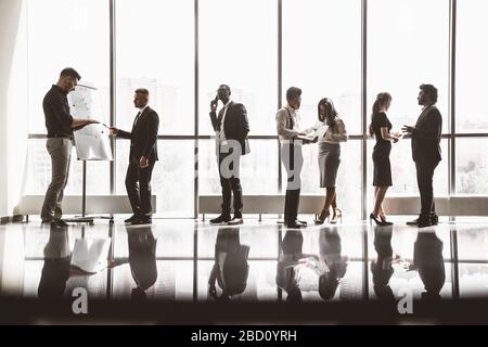
<instances>
[{"instance_id":1,"label":"floor reflection of the light-shirted man with arm extended","mask_svg":"<svg viewBox=\"0 0 488 347\"><path fill-rule=\"evenodd\" d=\"M286 292L286 301L301 301L299 287L304 267L317 268L319 257L303 253L304 235L300 230L288 229L283 237L280 258L277 264L277 285Z\"/></svg>"}]
</instances>

